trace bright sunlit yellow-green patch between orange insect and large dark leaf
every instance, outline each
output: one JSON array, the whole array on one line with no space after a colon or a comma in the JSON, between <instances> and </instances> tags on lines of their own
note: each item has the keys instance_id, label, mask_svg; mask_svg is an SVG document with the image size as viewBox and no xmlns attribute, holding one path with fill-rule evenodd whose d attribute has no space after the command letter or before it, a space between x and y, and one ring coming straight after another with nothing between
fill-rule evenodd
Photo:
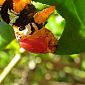
<instances>
[{"instance_id":1,"label":"bright sunlit yellow-green patch between orange insect and large dark leaf","mask_svg":"<svg viewBox=\"0 0 85 85\"><path fill-rule=\"evenodd\" d=\"M65 26L65 19L58 13L52 14L46 24L46 28L49 29L58 39L61 37Z\"/></svg>"}]
</instances>

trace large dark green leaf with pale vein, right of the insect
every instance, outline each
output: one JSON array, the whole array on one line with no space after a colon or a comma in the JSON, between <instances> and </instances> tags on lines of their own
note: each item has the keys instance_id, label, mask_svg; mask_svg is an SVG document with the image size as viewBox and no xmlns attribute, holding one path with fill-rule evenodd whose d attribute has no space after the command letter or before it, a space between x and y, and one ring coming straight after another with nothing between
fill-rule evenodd
<instances>
[{"instance_id":1,"label":"large dark green leaf with pale vein, right of the insect","mask_svg":"<svg viewBox=\"0 0 85 85\"><path fill-rule=\"evenodd\" d=\"M57 54L76 54L85 51L85 0L35 0L56 9L65 18L65 30L58 42ZM45 2L46 1L46 2Z\"/></svg>"}]
</instances>

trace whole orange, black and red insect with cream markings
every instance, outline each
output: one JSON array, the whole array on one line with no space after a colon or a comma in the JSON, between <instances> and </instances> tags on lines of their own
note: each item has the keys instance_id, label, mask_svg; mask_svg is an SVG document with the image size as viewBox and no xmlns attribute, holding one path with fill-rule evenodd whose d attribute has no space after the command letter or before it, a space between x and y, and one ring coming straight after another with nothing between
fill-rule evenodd
<instances>
[{"instance_id":1,"label":"whole orange, black and red insect with cream markings","mask_svg":"<svg viewBox=\"0 0 85 85\"><path fill-rule=\"evenodd\" d=\"M21 47L33 53L55 52L57 39L45 28L45 22L55 6L37 12L31 0L0 0L0 5L1 16L7 23L10 23L8 9L18 13L13 29Z\"/></svg>"}]
</instances>

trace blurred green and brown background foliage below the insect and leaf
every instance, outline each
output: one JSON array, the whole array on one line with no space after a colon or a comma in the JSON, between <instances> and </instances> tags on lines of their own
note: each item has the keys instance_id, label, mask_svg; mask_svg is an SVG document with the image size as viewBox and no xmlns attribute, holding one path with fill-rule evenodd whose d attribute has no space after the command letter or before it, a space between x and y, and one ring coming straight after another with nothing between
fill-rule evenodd
<instances>
[{"instance_id":1,"label":"blurred green and brown background foliage below the insect and leaf","mask_svg":"<svg viewBox=\"0 0 85 85\"><path fill-rule=\"evenodd\" d=\"M13 50L13 48L11 50ZM13 52L11 52L11 55L13 55ZM9 56L8 53L5 53L4 57L3 54L2 56L0 55L2 57L0 58L0 71L2 71L2 69L9 62L11 55ZM85 84L84 55L85 53L83 53L82 55L78 54L71 56L54 55L51 53L22 53L21 60L5 78L5 80L2 82L2 85L13 85L16 83L19 84L23 83L22 81L26 79L27 81L22 85L26 85L26 83L29 83L29 85L34 85L35 83L37 83L38 85L47 85L47 83L50 83L51 81L80 83L80 85L82 85L83 83ZM3 63L4 65L2 65L1 63Z\"/></svg>"}]
</instances>

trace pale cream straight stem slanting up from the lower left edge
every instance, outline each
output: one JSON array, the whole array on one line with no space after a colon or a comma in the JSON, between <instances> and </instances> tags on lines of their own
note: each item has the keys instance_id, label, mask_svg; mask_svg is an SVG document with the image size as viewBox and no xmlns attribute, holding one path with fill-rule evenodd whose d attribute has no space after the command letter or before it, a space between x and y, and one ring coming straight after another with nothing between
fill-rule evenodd
<instances>
[{"instance_id":1,"label":"pale cream straight stem slanting up from the lower left edge","mask_svg":"<svg viewBox=\"0 0 85 85\"><path fill-rule=\"evenodd\" d=\"M16 54L14 58L11 60L11 62L7 65L7 67L3 70L3 72L0 75L0 84L4 80L4 78L7 76L7 74L11 71L11 69L15 66L15 64L20 60L21 55Z\"/></svg>"}]
</instances>

